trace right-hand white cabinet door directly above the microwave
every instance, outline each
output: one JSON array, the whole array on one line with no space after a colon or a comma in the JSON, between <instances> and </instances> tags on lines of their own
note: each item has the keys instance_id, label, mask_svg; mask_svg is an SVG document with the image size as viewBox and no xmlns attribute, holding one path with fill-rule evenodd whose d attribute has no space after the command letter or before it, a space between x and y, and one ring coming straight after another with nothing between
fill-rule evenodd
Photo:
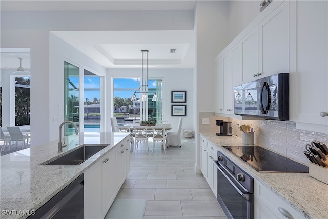
<instances>
[{"instance_id":1,"label":"right-hand white cabinet door directly above the microwave","mask_svg":"<svg viewBox=\"0 0 328 219\"><path fill-rule=\"evenodd\" d=\"M289 1L258 24L258 59L258 78L289 72Z\"/></svg>"}]
</instances>

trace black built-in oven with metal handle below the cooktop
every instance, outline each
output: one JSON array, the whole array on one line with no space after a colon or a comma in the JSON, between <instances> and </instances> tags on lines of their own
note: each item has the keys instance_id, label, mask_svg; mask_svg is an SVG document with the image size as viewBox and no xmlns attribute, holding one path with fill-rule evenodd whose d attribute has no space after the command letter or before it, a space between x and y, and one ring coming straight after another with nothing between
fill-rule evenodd
<instances>
[{"instance_id":1,"label":"black built-in oven with metal handle below the cooktop","mask_svg":"<svg viewBox=\"0 0 328 219\"><path fill-rule=\"evenodd\" d=\"M253 218L254 179L217 151L217 201L228 218Z\"/></svg>"}]
</instances>

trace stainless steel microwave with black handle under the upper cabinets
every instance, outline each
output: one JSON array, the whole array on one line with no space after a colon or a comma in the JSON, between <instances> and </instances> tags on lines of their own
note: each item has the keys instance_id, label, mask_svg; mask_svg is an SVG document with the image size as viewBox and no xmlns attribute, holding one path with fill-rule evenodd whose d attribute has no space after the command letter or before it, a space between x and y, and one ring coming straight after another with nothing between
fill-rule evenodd
<instances>
[{"instance_id":1,"label":"stainless steel microwave with black handle under the upper cabinets","mask_svg":"<svg viewBox=\"0 0 328 219\"><path fill-rule=\"evenodd\" d=\"M289 73L234 87L236 115L289 120Z\"/></svg>"}]
</instances>

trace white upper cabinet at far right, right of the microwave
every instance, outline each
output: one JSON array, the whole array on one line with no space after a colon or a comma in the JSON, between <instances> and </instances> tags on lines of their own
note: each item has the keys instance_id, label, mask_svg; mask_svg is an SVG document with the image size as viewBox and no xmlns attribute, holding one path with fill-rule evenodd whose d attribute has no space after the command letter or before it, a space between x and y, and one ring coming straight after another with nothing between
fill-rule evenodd
<instances>
[{"instance_id":1,"label":"white upper cabinet at far right, right of the microwave","mask_svg":"<svg viewBox=\"0 0 328 219\"><path fill-rule=\"evenodd\" d=\"M328 2L290 4L290 120L296 128L327 133L328 116L320 112L328 112Z\"/></svg>"}]
</instances>

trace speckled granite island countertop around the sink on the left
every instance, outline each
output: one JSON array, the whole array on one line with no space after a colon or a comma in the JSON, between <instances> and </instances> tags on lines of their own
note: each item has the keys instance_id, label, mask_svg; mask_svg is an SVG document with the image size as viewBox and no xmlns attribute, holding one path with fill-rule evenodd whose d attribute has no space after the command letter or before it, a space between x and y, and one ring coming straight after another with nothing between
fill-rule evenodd
<instances>
[{"instance_id":1,"label":"speckled granite island countertop around the sink on the left","mask_svg":"<svg viewBox=\"0 0 328 219\"><path fill-rule=\"evenodd\" d=\"M127 136L126 133L79 133L65 137L68 146L61 153L57 152L56 140L1 156L0 218L28 217L23 211L37 210ZM80 165L40 165L84 144L108 146Z\"/></svg>"}]
</instances>

